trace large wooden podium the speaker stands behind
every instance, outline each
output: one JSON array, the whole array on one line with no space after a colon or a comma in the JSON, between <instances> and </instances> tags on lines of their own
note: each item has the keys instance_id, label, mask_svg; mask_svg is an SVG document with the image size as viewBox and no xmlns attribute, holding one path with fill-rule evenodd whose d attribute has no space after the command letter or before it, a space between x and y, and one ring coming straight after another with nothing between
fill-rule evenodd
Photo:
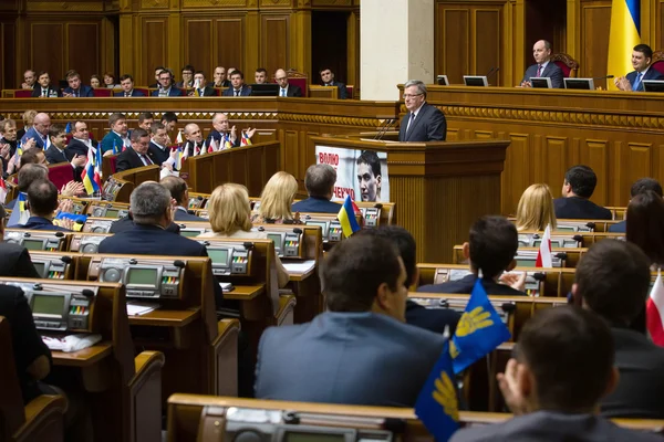
<instances>
[{"instance_id":1,"label":"large wooden podium the speaker stands behind","mask_svg":"<svg viewBox=\"0 0 664 442\"><path fill-rule=\"evenodd\" d=\"M398 134L388 133L395 138ZM477 218L500 213L500 173L509 140L396 143L357 136L311 137L317 146L387 154L396 224L417 242L417 262L449 263ZM315 162L315 158L313 158Z\"/></svg>"}]
</instances>

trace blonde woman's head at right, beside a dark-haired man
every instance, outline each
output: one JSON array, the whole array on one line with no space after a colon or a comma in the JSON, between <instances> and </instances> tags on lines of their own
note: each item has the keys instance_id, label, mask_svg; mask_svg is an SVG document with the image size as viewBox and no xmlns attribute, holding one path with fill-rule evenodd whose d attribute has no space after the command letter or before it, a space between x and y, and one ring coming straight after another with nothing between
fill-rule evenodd
<instances>
[{"instance_id":1,"label":"blonde woman's head at right, beside a dark-haired man","mask_svg":"<svg viewBox=\"0 0 664 442\"><path fill-rule=\"evenodd\" d=\"M532 185L521 196L517 207L517 230L543 231L551 224L556 230L556 211L553 196L549 186Z\"/></svg>"}]
</instances>

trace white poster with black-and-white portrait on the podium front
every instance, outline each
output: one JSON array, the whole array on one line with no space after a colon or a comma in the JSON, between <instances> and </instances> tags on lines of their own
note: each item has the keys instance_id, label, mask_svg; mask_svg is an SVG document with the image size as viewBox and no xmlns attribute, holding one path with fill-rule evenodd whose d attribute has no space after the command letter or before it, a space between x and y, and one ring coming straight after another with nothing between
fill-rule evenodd
<instances>
[{"instance_id":1,"label":"white poster with black-and-white portrait on the podium front","mask_svg":"<svg viewBox=\"0 0 664 442\"><path fill-rule=\"evenodd\" d=\"M353 201L390 201L387 152L317 146L315 162L336 170L333 201L343 200L346 194Z\"/></svg>"}]
</instances>

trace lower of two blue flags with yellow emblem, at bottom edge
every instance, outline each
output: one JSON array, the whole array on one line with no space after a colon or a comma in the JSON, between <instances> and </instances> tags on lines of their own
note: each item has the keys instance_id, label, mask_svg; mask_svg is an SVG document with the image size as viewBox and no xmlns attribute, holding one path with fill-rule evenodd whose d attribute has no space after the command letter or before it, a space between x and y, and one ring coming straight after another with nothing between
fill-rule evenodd
<instances>
[{"instance_id":1,"label":"lower of two blue flags with yellow emblem, at bottom edge","mask_svg":"<svg viewBox=\"0 0 664 442\"><path fill-rule=\"evenodd\" d=\"M459 428L459 406L454 386L449 341L415 402L415 414L437 442L447 441Z\"/></svg>"}]
</instances>

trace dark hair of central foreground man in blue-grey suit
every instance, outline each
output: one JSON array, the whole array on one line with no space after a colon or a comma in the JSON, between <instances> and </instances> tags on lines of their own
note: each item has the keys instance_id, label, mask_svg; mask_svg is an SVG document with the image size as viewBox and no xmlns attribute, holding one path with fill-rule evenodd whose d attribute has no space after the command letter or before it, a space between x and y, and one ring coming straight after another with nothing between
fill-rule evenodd
<instances>
[{"instance_id":1,"label":"dark hair of central foreground man in blue-grey suit","mask_svg":"<svg viewBox=\"0 0 664 442\"><path fill-rule=\"evenodd\" d=\"M396 291L398 251L388 241L353 235L341 241L322 264L322 290L332 312L369 312L381 284Z\"/></svg>"}]
</instances>

